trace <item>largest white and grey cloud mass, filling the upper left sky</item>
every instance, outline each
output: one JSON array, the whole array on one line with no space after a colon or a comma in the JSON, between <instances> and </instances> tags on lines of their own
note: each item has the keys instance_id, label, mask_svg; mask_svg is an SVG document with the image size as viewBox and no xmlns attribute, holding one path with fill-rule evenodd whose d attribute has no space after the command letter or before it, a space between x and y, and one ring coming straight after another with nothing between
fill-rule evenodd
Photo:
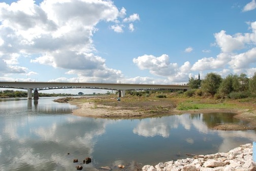
<instances>
[{"instance_id":1,"label":"largest white and grey cloud mass, filling the upper left sky","mask_svg":"<svg viewBox=\"0 0 256 171\"><path fill-rule=\"evenodd\" d=\"M1 71L27 72L26 67L17 66L21 57L18 54L22 52L30 57L31 63L68 69L77 75L90 70L94 77L102 74L99 79L106 77L106 73L111 77L114 72L120 77L120 71L109 69L105 59L93 54L97 50L92 36L99 22L118 23L118 17L125 15L125 8L118 11L113 2L102 0L43 1L40 5L33 0L0 3L0 59L4 61ZM138 19L139 15L134 14L125 20ZM123 27L111 26L116 32L123 32ZM134 29L132 25L129 28Z\"/></svg>"}]
</instances>

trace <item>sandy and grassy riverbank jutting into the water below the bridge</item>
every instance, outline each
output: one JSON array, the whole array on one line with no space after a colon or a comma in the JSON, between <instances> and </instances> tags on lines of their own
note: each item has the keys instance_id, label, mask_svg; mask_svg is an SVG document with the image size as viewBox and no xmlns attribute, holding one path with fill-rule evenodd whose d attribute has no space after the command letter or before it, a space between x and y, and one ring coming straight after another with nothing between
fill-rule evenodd
<instances>
[{"instance_id":1,"label":"sandy and grassy riverbank jutting into the water below the bridge","mask_svg":"<svg viewBox=\"0 0 256 171\"><path fill-rule=\"evenodd\" d=\"M67 99L69 98L69 99ZM74 115L95 118L147 118L175 114L197 113L235 113L235 118L242 124L219 124L212 129L220 130L251 130L256 128L256 100L215 100L212 98L155 98L155 97L122 97L117 101L116 96L85 96L66 97L58 102L69 102L78 106ZM246 123L246 124L244 124Z\"/></svg>"}]
</instances>

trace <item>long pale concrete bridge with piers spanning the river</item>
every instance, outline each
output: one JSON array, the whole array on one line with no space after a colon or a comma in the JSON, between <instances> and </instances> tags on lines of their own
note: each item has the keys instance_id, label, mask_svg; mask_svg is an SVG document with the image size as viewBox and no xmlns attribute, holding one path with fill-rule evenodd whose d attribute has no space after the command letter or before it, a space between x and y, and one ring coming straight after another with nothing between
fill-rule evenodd
<instances>
[{"instance_id":1,"label":"long pale concrete bridge with piers spanning the river","mask_svg":"<svg viewBox=\"0 0 256 171\"><path fill-rule=\"evenodd\" d=\"M27 98L38 98L38 90L62 89L62 88L89 88L89 89L106 89L117 90L118 97L125 95L125 90L159 90L189 89L188 85L162 85L162 84L117 84L117 83L69 83L69 82L0 82L0 88L27 89Z\"/></svg>"}]
</instances>

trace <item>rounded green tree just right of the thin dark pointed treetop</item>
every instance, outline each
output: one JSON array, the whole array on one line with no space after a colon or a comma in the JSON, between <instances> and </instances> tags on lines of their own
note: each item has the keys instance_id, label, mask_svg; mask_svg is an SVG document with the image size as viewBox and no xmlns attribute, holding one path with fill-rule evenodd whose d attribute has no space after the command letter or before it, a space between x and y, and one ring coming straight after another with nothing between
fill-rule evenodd
<instances>
[{"instance_id":1,"label":"rounded green tree just right of the thin dark pointed treetop","mask_svg":"<svg viewBox=\"0 0 256 171\"><path fill-rule=\"evenodd\" d=\"M208 73L204 80L202 80L202 90L206 93L210 93L211 95L214 95L222 81L222 78L220 75L215 73Z\"/></svg>"}]
</instances>

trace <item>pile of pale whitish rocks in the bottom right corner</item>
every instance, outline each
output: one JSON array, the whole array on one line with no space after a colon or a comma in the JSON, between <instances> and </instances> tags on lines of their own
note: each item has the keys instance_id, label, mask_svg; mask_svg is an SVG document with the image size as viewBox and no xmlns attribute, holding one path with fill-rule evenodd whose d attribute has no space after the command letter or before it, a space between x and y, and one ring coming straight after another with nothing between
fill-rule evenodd
<instances>
[{"instance_id":1,"label":"pile of pale whitish rocks in the bottom right corner","mask_svg":"<svg viewBox=\"0 0 256 171\"><path fill-rule=\"evenodd\" d=\"M228 153L196 155L193 158L179 159L145 165L143 171L254 171L256 163L252 160L252 144L245 144Z\"/></svg>"}]
</instances>

